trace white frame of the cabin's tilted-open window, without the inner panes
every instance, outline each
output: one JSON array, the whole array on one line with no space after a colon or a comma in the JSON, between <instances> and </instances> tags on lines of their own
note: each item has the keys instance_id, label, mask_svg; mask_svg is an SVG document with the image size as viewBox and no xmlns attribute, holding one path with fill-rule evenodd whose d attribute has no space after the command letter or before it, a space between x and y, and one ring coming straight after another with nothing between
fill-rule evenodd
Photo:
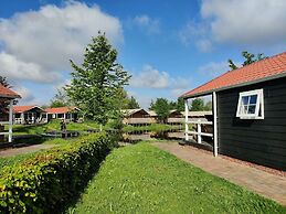
<instances>
[{"instance_id":1,"label":"white frame of the cabin's tilted-open window, without the inner panes","mask_svg":"<svg viewBox=\"0 0 286 214\"><path fill-rule=\"evenodd\" d=\"M254 114L242 114L241 113L242 97L253 96L253 95L257 95L255 113ZM259 115L259 113L261 113L261 115ZM236 117L239 117L241 119L264 119L263 89L255 89L255 90L240 93L240 98L239 98L239 104L237 104L237 109L236 109Z\"/></svg>"}]
</instances>

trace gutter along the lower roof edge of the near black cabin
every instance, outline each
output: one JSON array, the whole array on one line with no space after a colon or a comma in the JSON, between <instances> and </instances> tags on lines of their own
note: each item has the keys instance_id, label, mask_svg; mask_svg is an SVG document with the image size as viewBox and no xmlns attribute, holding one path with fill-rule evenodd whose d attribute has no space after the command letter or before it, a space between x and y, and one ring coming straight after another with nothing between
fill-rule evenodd
<instances>
[{"instance_id":1,"label":"gutter along the lower roof edge of the near black cabin","mask_svg":"<svg viewBox=\"0 0 286 214\"><path fill-rule=\"evenodd\" d=\"M205 90L202 93L197 93L197 94L192 94L192 95L186 95L186 96L181 96L183 99L189 99L189 98L194 98L194 97L200 97L200 96L205 96L205 95L211 95L213 92L222 92L222 90L226 90L226 89L232 89L232 88L236 88L236 87L243 87L243 86L248 86L248 85L253 85L253 84L257 84L257 83L263 83L263 82L267 82L267 81L273 81L273 79L277 79L277 78L283 78L286 77L286 71L284 71L283 73L273 75L273 76L267 76L265 78L258 78L255 81L250 81L250 82L245 82L245 83L240 83L236 85L231 85L231 86L224 86L224 87L220 87L220 88L214 88L211 90Z\"/></svg>"}]
</instances>

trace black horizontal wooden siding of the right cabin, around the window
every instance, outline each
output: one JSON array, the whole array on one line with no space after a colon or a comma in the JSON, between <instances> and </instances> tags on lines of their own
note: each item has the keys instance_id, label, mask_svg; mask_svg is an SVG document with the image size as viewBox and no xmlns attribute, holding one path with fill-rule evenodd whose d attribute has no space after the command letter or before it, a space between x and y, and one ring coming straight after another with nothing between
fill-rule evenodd
<instances>
[{"instance_id":1,"label":"black horizontal wooden siding of the right cabin, around the window","mask_svg":"<svg viewBox=\"0 0 286 214\"><path fill-rule=\"evenodd\" d=\"M264 89L263 120L236 118L241 92ZM286 78L218 93L219 153L286 170Z\"/></svg>"}]
</instances>

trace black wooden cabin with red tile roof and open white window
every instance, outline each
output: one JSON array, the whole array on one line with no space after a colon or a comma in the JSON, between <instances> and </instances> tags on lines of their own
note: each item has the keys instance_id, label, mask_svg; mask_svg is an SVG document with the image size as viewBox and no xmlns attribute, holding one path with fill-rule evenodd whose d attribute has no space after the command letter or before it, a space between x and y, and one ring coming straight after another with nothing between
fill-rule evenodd
<instances>
[{"instance_id":1,"label":"black wooden cabin with red tile roof and open white window","mask_svg":"<svg viewBox=\"0 0 286 214\"><path fill-rule=\"evenodd\" d=\"M227 72L183 98L210 94L218 153L285 171L286 52Z\"/></svg>"}]
</instances>

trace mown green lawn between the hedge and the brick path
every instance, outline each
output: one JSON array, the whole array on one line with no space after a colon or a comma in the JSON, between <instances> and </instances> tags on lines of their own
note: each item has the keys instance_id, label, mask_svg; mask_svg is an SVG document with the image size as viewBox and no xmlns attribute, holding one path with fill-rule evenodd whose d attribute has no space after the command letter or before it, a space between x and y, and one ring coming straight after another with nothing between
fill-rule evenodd
<instances>
[{"instance_id":1,"label":"mown green lawn between the hedge and the brick path","mask_svg":"<svg viewBox=\"0 0 286 214\"><path fill-rule=\"evenodd\" d=\"M109 154L68 213L286 213L148 143Z\"/></svg>"}]
</instances>

